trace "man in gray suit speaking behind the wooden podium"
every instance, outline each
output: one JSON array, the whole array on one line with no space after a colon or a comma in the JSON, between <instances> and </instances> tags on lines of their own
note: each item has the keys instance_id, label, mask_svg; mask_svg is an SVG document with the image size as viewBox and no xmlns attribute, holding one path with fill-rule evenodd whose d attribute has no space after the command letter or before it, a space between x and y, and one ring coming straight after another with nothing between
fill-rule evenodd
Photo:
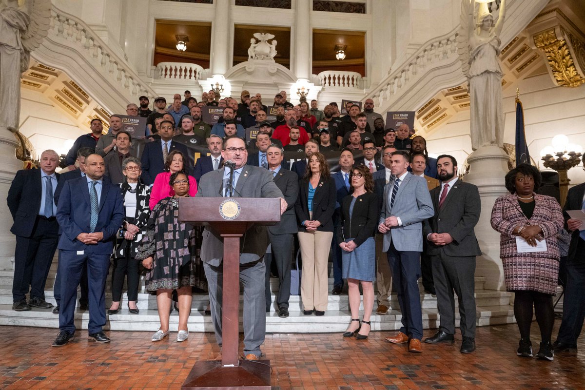
<instances>
[{"instance_id":1,"label":"man in gray suit speaking behind the wooden podium","mask_svg":"<svg viewBox=\"0 0 585 390\"><path fill-rule=\"evenodd\" d=\"M281 198L280 213L287 209L283 193L273 181L269 170L246 165L248 153L246 143L238 137L230 137L223 143L223 161L235 164L233 174L233 196L245 198ZM199 180L198 198L218 198L228 195L229 169L227 167L208 172ZM244 353L248 360L258 360L260 346L266 336L266 299L264 281L266 265L264 253L268 247L266 226L252 226L240 242L240 282L244 287ZM223 242L215 230L205 227L201 244L201 260L209 285L211 319L215 338L222 344L222 299L223 299Z\"/></svg>"}]
</instances>

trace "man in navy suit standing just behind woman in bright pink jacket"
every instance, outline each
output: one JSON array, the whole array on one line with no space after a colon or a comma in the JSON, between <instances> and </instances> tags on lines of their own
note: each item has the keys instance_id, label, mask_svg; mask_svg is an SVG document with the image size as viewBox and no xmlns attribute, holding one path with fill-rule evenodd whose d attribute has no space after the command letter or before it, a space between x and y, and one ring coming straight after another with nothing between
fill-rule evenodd
<instances>
[{"instance_id":1,"label":"man in navy suit standing just behind woman in bright pink jacket","mask_svg":"<svg viewBox=\"0 0 585 390\"><path fill-rule=\"evenodd\" d=\"M164 171L164 160L168 153L173 150L178 150L183 153L185 157L185 164L189 161L189 152L184 144L173 141L173 135L175 134L175 125L170 120L163 120L160 123L160 140L155 140L144 145L144 151L140 162L142 163L142 182L146 185L153 185L154 178L160 172ZM166 152L166 154L165 154ZM191 171L192 167L189 167Z\"/></svg>"}]
</instances>

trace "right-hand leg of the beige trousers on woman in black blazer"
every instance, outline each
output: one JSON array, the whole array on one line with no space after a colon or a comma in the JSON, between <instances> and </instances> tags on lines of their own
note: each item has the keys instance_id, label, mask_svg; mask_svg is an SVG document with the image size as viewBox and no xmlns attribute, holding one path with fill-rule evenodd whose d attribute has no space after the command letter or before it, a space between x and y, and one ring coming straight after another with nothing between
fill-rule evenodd
<instances>
[{"instance_id":1,"label":"right-hand leg of the beige trousers on woman in black blazer","mask_svg":"<svg viewBox=\"0 0 585 390\"><path fill-rule=\"evenodd\" d=\"M313 303L315 310L324 312L329 301L329 275L327 264L329 263L329 250L333 232L315 232L315 282L313 286Z\"/></svg>"}]
</instances>

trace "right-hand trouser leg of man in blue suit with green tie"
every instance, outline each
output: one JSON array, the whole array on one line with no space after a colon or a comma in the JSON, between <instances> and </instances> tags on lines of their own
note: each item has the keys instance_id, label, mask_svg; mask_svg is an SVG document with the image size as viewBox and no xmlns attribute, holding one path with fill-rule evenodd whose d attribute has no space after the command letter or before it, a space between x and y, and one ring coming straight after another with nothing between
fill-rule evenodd
<instances>
[{"instance_id":1,"label":"right-hand trouser leg of man in blue suit with green tie","mask_svg":"<svg viewBox=\"0 0 585 390\"><path fill-rule=\"evenodd\" d=\"M109 270L109 254L90 254L87 260L90 299L88 333L101 332L106 325L105 286Z\"/></svg>"}]
</instances>

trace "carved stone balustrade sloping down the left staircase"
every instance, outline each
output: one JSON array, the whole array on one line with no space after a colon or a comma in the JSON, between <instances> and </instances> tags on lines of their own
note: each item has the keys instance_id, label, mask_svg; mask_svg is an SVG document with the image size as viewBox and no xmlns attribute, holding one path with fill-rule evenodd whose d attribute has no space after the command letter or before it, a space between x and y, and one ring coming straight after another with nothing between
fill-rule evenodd
<instances>
[{"instance_id":1,"label":"carved stone balustrade sloping down the left staircase","mask_svg":"<svg viewBox=\"0 0 585 390\"><path fill-rule=\"evenodd\" d=\"M116 53L85 22L54 5L49 35L33 57L85 85L92 97L111 112L123 112L121 108L137 101L140 95L156 96L123 54Z\"/></svg>"}]
</instances>

